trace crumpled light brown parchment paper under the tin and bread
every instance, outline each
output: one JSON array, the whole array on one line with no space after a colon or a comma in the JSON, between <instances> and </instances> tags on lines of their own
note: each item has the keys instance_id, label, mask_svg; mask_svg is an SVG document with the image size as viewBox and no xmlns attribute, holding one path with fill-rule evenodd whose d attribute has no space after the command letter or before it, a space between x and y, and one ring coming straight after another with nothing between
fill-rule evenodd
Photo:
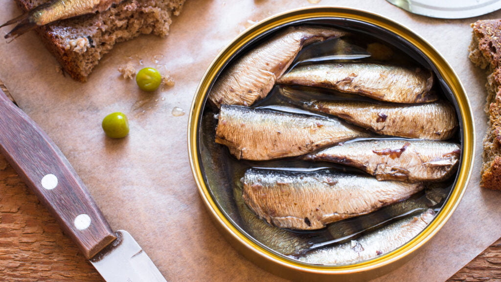
<instances>
[{"instance_id":1,"label":"crumpled light brown parchment paper under the tin and bread","mask_svg":"<svg viewBox=\"0 0 501 282\"><path fill-rule=\"evenodd\" d=\"M376 281L443 281L501 236L501 192L480 189L485 75L467 59L470 23L404 12L383 0L187 0L166 39L142 36L119 44L87 83L57 72L58 64L34 32L7 44L0 31L0 78L20 107L47 131L87 184L113 229L128 230L169 281L280 281L234 250L216 230L189 168L189 107L203 73L241 31L273 14L305 6L344 6L381 14L431 43L461 79L475 114L476 158L468 189L440 232L399 269ZM21 11L0 2L0 22ZM158 61L158 65L155 63ZM120 64L168 71L175 86L153 94L120 77ZM162 66L164 65L164 66ZM179 107L185 115L174 116ZM131 132L106 138L102 118L122 111Z\"/></svg>"}]
</instances>

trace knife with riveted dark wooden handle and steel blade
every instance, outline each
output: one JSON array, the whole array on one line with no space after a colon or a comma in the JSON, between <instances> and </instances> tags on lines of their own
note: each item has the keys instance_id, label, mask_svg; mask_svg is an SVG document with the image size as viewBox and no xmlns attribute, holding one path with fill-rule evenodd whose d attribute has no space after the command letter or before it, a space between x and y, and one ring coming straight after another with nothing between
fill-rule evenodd
<instances>
[{"instance_id":1,"label":"knife with riveted dark wooden handle and steel blade","mask_svg":"<svg viewBox=\"0 0 501 282\"><path fill-rule=\"evenodd\" d=\"M2 90L0 152L107 282L166 282L127 231L111 230L63 153Z\"/></svg>"}]
</instances>

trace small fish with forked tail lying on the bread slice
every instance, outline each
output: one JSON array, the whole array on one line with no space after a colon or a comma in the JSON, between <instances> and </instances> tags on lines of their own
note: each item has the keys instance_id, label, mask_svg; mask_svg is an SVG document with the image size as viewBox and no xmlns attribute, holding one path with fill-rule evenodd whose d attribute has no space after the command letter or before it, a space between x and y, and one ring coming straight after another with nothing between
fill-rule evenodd
<instances>
[{"instance_id":1,"label":"small fish with forked tail lying on the bread slice","mask_svg":"<svg viewBox=\"0 0 501 282\"><path fill-rule=\"evenodd\" d=\"M17 23L18 25L5 38L17 37L37 26L106 11L113 4L119 4L122 1L124 0L51 0L35 7L26 14L8 21L0 28Z\"/></svg>"}]
</instances>

